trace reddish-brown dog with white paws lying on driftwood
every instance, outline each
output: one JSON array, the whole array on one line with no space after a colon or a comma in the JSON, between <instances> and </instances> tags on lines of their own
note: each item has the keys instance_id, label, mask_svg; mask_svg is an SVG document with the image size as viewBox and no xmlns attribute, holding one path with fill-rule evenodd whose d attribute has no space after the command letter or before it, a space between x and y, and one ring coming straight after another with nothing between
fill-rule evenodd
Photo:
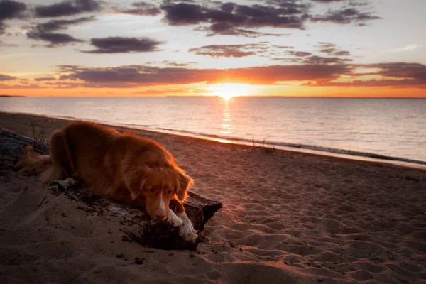
<instances>
[{"instance_id":1,"label":"reddish-brown dog with white paws lying on driftwood","mask_svg":"<svg viewBox=\"0 0 426 284\"><path fill-rule=\"evenodd\" d=\"M103 197L145 204L151 218L179 227L186 241L198 237L182 205L194 180L151 139L75 121L52 134L50 155L28 146L17 167L20 173L37 174L42 182L78 182Z\"/></svg>"}]
</instances>

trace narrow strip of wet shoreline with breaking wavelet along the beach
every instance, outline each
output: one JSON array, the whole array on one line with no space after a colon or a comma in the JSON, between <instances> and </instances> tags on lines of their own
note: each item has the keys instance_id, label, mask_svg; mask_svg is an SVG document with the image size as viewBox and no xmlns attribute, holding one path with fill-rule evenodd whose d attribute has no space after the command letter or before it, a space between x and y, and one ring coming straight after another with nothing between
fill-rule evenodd
<instances>
[{"instance_id":1,"label":"narrow strip of wet shoreline with breaking wavelet along the beach","mask_svg":"<svg viewBox=\"0 0 426 284\"><path fill-rule=\"evenodd\" d=\"M77 119L75 117L69 116L48 116L42 114L28 114L23 112L4 112L0 111L0 114L23 114L28 116L39 116L50 119L61 119L66 121L77 121L77 120L85 120L85 119ZM200 138L207 141L216 141L219 143L226 144L236 144L236 145L244 145L244 146L253 146L253 143L256 143L256 146L266 147L266 148L274 148L275 150L282 151L290 151L296 153L307 153L312 155L322 155L326 157L335 157L335 158L343 158L346 160L359 160L368 163L386 163L390 165L399 165L406 168L415 168L426 170L426 161L422 160L413 160L408 158L400 158L389 155L380 155L376 153L368 153L368 152L359 152L347 149L338 149L338 148L327 148L323 146L310 146L304 144L297 143L286 143L286 142L268 142L268 141L249 141L246 138L231 138L226 136L217 136L214 134L202 134L196 133L192 131L176 131L173 129L152 129L149 126L139 126L136 124L111 124L107 121L97 121L97 120L86 120L92 121L99 124L104 124L112 127L125 127L127 129L138 129L142 131L151 131L155 133L164 133L164 134L172 134L190 138Z\"/></svg>"}]
</instances>

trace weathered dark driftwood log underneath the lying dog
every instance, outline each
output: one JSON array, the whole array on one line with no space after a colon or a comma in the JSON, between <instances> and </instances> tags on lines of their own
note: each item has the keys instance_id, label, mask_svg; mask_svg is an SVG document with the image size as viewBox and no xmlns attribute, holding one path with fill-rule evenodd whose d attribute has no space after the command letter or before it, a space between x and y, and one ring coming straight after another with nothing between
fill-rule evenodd
<instances>
[{"instance_id":1,"label":"weathered dark driftwood log underneath the lying dog","mask_svg":"<svg viewBox=\"0 0 426 284\"><path fill-rule=\"evenodd\" d=\"M18 136L7 129L0 129L0 170L11 172L23 153L23 148L32 145L36 152L49 152L47 143L38 143L31 138ZM14 174L14 173L13 173ZM206 197L189 192L185 210L195 229L200 231L200 237L195 241L184 241L178 235L178 229L167 222L151 219L143 208L134 208L126 204L119 204L113 200L102 198L81 190L77 185L66 186L61 181L50 184L53 195L64 195L77 203L77 209L88 214L97 214L106 217L111 222L117 222L124 234L123 241L136 241L144 246L158 249L196 249L203 239L201 232L207 221L214 213L222 208L222 203L209 200Z\"/></svg>"}]
</instances>

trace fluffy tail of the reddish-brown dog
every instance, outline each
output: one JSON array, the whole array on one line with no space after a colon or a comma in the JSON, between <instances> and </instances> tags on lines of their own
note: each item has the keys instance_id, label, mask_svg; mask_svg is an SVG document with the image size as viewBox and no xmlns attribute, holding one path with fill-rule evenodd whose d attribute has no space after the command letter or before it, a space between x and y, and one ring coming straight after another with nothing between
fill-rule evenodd
<instances>
[{"instance_id":1,"label":"fluffy tail of the reddish-brown dog","mask_svg":"<svg viewBox=\"0 0 426 284\"><path fill-rule=\"evenodd\" d=\"M38 175L41 182L63 178L62 170L53 164L52 157L35 153L33 146L24 149L16 168L21 168L18 173L22 175Z\"/></svg>"}]
</instances>

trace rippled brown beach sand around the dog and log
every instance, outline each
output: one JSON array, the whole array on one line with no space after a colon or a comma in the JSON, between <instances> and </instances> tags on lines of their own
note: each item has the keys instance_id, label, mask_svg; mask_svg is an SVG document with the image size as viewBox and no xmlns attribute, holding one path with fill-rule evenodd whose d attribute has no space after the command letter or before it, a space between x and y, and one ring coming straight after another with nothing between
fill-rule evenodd
<instances>
[{"instance_id":1,"label":"rippled brown beach sand around the dog and log","mask_svg":"<svg viewBox=\"0 0 426 284\"><path fill-rule=\"evenodd\" d=\"M46 136L68 121L0 114ZM224 208L197 251L122 241L107 219L0 174L0 283L426 283L426 170L150 131Z\"/></svg>"}]
</instances>

